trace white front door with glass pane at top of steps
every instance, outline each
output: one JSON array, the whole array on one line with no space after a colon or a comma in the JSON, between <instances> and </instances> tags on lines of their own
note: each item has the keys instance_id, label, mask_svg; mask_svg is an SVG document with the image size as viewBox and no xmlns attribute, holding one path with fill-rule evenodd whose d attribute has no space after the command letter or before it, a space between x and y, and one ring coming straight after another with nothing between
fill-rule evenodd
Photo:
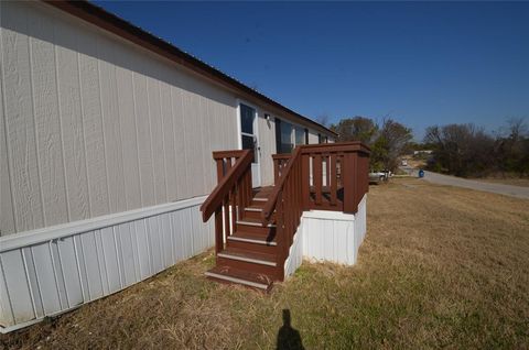
<instances>
[{"instance_id":1,"label":"white front door with glass pane at top of steps","mask_svg":"<svg viewBox=\"0 0 529 350\"><path fill-rule=\"evenodd\" d=\"M239 105L239 130L241 150L253 150L251 163L251 184L253 187L261 186L261 169L259 167L259 138L257 132L257 111L255 108Z\"/></svg>"}]
</instances>

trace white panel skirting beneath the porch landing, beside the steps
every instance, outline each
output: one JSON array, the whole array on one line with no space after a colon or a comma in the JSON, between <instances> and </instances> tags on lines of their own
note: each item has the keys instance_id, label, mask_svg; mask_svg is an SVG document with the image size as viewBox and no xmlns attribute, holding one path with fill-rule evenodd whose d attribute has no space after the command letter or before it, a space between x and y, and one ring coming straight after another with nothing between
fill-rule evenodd
<instances>
[{"instance_id":1,"label":"white panel skirting beneath the porch landing, beside the steps","mask_svg":"<svg viewBox=\"0 0 529 350\"><path fill-rule=\"evenodd\" d=\"M354 265L366 236L366 201L367 194L360 200L355 215L328 210L303 212L284 263L284 276L292 275L303 258Z\"/></svg>"}]
</instances>

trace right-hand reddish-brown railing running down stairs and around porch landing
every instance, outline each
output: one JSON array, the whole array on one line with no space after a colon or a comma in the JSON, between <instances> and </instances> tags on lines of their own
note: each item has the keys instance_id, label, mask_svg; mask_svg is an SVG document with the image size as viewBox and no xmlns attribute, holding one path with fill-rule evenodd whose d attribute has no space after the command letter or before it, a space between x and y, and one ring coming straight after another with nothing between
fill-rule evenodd
<instances>
[{"instance_id":1,"label":"right-hand reddish-brown railing running down stairs and around porch landing","mask_svg":"<svg viewBox=\"0 0 529 350\"><path fill-rule=\"evenodd\" d=\"M278 266L283 266L304 210L358 210L369 188L369 149L359 142L303 145L273 160L276 186L261 220L268 225L276 212Z\"/></svg>"}]
</instances>

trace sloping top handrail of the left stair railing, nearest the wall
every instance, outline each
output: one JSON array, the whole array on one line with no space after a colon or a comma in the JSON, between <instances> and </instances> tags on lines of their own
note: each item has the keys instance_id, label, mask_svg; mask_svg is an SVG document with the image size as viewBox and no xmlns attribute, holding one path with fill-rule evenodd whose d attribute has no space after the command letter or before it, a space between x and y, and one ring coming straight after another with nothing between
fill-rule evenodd
<instances>
[{"instance_id":1,"label":"sloping top handrail of the left stair railing, nearest the wall","mask_svg":"<svg viewBox=\"0 0 529 350\"><path fill-rule=\"evenodd\" d=\"M235 154L235 152L239 151L229 151L229 153L227 151L214 152L214 157L215 153L217 153L218 158L222 158L231 156L231 154ZM250 166L251 160L253 158L252 153L253 152L251 150L240 151L241 156L237 160L235 165L228 169L212 194L202 204L201 211L204 222L209 219L209 217L215 212L215 210L217 210L218 207L223 206L224 198L229 194L239 177L241 177L245 174L245 171Z\"/></svg>"}]
</instances>

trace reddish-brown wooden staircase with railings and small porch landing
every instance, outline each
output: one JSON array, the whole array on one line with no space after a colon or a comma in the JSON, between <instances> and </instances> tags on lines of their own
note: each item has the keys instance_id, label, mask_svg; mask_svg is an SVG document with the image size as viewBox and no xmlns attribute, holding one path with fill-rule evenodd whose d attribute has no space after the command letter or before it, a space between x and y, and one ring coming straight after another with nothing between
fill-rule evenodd
<instances>
[{"instance_id":1,"label":"reddish-brown wooden staircase with railings and small porch landing","mask_svg":"<svg viewBox=\"0 0 529 350\"><path fill-rule=\"evenodd\" d=\"M368 188L368 156L358 142L299 146L273 157L274 186L253 189L252 151L214 152L218 185L201 207L204 222L215 215L216 266L206 276L270 291L284 278L303 210L356 212Z\"/></svg>"}]
</instances>

